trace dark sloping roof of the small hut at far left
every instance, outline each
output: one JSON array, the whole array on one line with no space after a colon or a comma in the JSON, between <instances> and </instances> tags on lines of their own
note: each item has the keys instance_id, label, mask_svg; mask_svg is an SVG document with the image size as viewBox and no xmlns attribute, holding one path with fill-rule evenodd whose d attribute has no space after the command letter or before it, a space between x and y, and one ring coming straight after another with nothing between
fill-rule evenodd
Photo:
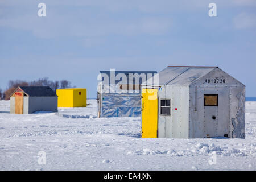
<instances>
[{"instance_id":1,"label":"dark sloping roof of the small hut at far left","mask_svg":"<svg viewBox=\"0 0 256 182\"><path fill-rule=\"evenodd\" d=\"M49 86L20 86L19 88L31 97L57 96Z\"/></svg>"}]
</instances>

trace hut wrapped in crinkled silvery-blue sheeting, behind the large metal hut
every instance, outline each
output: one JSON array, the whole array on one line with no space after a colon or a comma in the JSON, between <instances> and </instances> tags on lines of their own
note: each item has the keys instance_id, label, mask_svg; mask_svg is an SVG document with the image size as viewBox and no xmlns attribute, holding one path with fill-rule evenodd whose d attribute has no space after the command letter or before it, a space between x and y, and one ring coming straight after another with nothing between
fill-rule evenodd
<instances>
[{"instance_id":1,"label":"hut wrapped in crinkled silvery-blue sheeting, behind the large metal hut","mask_svg":"<svg viewBox=\"0 0 256 182\"><path fill-rule=\"evenodd\" d=\"M141 116L141 84L156 71L100 71L98 117Z\"/></svg>"}]
</instances>

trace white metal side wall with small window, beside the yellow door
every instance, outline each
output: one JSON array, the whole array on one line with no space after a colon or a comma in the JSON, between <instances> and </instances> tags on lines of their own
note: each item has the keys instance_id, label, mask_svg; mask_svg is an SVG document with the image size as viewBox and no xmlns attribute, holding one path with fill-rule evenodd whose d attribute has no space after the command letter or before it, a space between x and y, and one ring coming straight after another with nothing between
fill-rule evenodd
<instances>
[{"instance_id":1,"label":"white metal side wall with small window, beside the yellow door","mask_svg":"<svg viewBox=\"0 0 256 182\"><path fill-rule=\"evenodd\" d=\"M162 99L171 100L171 115L160 114L160 100ZM159 90L158 102L158 137L188 138L189 87L162 86L162 90Z\"/></svg>"}]
</instances>

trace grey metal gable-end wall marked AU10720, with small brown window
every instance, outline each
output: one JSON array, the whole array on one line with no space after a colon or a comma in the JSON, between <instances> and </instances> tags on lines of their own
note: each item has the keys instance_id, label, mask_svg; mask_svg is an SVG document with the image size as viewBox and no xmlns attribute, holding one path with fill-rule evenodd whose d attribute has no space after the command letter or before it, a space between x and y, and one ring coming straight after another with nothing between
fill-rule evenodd
<instances>
[{"instance_id":1,"label":"grey metal gable-end wall marked AU10720, with small brown window","mask_svg":"<svg viewBox=\"0 0 256 182\"><path fill-rule=\"evenodd\" d=\"M225 79L225 83L206 83L205 79ZM195 98L195 88L197 86L197 101ZM241 90L242 89L242 90ZM244 136L244 121L245 121L245 87L241 82L237 81L232 76L228 75L219 68L204 75L199 80L190 85L189 89L189 138L204 138L209 133L210 128L216 130L216 136L223 137L228 134L229 137L243 138ZM207 123L207 118L210 117L205 111L211 110L204 109L204 94L218 93L218 110L211 111L217 115L217 123L213 126ZM197 106L196 106L197 102ZM239 106L238 106L239 105ZM240 111L237 108L240 107ZM195 111L195 109L197 109ZM238 113L238 114L237 114ZM203 116L203 117L202 117ZM237 118L238 117L238 118ZM232 118L233 123L241 123L237 125L239 132L236 136L232 136ZM210 121L210 119L209 119ZM216 125L215 125L216 124ZM236 125L235 124L235 125Z\"/></svg>"}]
</instances>

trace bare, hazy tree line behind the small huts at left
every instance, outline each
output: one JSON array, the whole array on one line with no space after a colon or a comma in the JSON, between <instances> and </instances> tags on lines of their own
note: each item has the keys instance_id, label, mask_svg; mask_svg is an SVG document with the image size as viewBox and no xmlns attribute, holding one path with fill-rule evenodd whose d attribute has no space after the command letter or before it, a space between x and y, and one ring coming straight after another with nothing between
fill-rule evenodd
<instances>
[{"instance_id":1,"label":"bare, hazy tree line behind the small huts at left","mask_svg":"<svg viewBox=\"0 0 256 182\"><path fill-rule=\"evenodd\" d=\"M10 80L6 90L0 88L0 100L10 100L10 94L13 93L18 86L49 86L56 92L56 89L71 88L71 82L68 80L52 81L48 80L47 77L30 82L24 80ZM74 88L76 86L72 87Z\"/></svg>"}]
</instances>

